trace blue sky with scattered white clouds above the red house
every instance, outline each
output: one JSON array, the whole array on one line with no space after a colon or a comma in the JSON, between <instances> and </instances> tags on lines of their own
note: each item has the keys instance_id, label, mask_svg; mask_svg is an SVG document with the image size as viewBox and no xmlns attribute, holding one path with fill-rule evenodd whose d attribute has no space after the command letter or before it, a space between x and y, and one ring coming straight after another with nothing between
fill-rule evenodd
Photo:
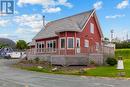
<instances>
[{"instance_id":1,"label":"blue sky with scattered white clouds above the red house","mask_svg":"<svg viewBox=\"0 0 130 87\"><path fill-rule=\"evenodd\" d=\"M42 15L47 23L93 8L105 37L113 29L115 37L130 38L128 0L15 0L15 14L0 14L0 37L29 42L42 28Z\"/></svg>"}]
</instances>

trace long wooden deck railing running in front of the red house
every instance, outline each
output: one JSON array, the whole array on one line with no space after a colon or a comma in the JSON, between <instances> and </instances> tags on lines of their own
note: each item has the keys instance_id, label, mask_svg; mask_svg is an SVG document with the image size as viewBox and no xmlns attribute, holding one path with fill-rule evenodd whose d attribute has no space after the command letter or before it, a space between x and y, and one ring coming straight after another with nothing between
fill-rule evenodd
<instances>
[{"instance_id":1,"label":"long wooden deck railing running in front of the red house","mask_svg":"<svg viewBox=\"0 0 130 87\"><path fill-rule=\"evenodd\" d=\"M76 54L88 54L88 53L114 53L114 47L101 46L98 49L90 48L73 48L73 49L59 49L59 48L33 48L27 50L28 54L56 54L56 55L76 55Z\"/></svg>"}]
</instances>

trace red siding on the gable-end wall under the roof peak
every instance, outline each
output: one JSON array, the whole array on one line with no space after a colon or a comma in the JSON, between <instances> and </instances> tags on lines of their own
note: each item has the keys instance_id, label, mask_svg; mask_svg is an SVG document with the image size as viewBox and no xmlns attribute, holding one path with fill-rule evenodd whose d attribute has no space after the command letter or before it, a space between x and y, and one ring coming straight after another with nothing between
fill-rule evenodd
<instances>
[{"instance_id":1,"label":"red siding on the gable-end wall under the roof peak","mask_svg":"<svg viewBox=\"0 0 130 87\"><path fill-rule=\"evenodd\" d=\"M94 34L90 32L90 23L94 24ZM96 42L101 44L101 35L95 20L95 17L91 17L85 28L81 33L77 33L77 37L80 38L81 48L84 48L84 40L89 40L89 47L95 46Z\"/></svg>"}]
</instances>

